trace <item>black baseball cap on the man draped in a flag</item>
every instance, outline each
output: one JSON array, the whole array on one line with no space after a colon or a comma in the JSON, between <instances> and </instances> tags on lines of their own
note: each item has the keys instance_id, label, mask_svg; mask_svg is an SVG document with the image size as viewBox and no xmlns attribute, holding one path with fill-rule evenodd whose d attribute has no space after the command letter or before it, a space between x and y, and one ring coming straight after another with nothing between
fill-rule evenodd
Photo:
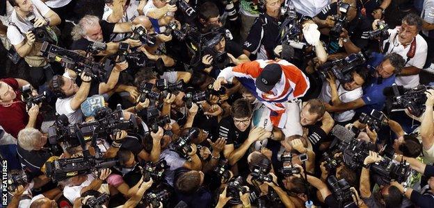
<instances>
[{"instance_id":1,"label":"black baseball cap on the man draped in a flag","mask_svg":"<svg viewBox=\"0 0 434 208\"><path fill-rule=\"evenodd\" d=\"M256 78L255 85L262 92L268 92L282 77L282 68L279 64L268 64Z\"/></svg>"}]
</instances>

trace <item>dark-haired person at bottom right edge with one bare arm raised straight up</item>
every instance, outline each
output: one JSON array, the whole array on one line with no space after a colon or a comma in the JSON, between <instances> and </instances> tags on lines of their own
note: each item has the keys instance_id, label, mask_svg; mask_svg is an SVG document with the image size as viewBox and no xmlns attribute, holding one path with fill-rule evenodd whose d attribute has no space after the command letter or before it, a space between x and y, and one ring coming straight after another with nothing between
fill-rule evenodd
<instances>
[{"instance_id":1,"label":"dark-haired person at bottom right edge with one bare arm raised straight up","mask_svg":"<svg viewBox=\"0 0 434 208\"><path fill-rule=\"evenodd\" d=\"M369 166L379 162L381 157L378 153L369 151L369 156L364 159L362 173L360 175L360 198L368 207L405 207L401 191L394 186L380 187L378 190L380 198L371 193L371 182L369 179Z\"/></svg>"}]
</instances>

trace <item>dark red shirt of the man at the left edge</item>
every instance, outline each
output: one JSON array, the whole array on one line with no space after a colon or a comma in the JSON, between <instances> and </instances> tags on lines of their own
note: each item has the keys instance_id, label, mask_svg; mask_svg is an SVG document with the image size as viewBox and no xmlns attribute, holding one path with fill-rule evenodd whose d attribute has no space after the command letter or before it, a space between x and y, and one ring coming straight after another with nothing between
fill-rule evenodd
<instances>
[{"instance_id":1,"label":"dark red shirt of the man at the left edge","mask_svg":"<svg viewBox=\"0 0 434 208\"><path fill-rule=\"evenodd\" d=\"M29 122L29 114L26 112L26 105L21 101L21 92L15 78L2 79L2 82L10 85L17 94L13 104L5 107L0 105L0 125L3 129L15 138L18 138L18 132L26 127ZM42 116L38 115L36 119L36 128L40 129L42 125Z\"/></svg>"}]
</instances>

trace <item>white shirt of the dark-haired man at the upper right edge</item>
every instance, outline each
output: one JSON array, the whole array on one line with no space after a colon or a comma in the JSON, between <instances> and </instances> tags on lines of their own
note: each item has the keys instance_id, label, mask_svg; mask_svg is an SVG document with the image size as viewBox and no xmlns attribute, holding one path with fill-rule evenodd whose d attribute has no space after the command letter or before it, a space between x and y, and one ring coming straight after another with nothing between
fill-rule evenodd
<instances>
[{"instance_id":1,"label":"white shirt of the dark-haired man at the upper right edge","mask_svg":"<svg viewBox=\"0 0 434 208\"><path fill-rule=\"evenodd\" d=\"M405 62L407 62L407 53L410 51L410 44L404 48L404 46L399 42L398 29L394 28L393 30L389 29L389 39L383 42L383 47L387 42L390 42L389 49L386 54L389 53L398 53L401 55ZM417 35L415 37L416 40L416 52L413 58L410 58L404 67L417 67L419 69L424 68L426 53L428 53L428 45L424 40L424 37L421 35ZM414 41L414 40L413 40ZM396 76L396 85L403 85L405 88L416 87L419 85L419 74L411 75L411 76Z\"/></svg>"}]
</instances>

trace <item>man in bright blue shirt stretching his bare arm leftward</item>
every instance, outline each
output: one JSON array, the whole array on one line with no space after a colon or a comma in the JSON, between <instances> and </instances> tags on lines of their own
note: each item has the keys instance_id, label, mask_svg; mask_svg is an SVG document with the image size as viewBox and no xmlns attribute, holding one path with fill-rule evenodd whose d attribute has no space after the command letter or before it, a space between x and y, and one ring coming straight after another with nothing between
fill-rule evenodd
<instances>
[{"instance_id":1,"label":"man in bright blue shirt stretching his bare arm leftward","mask_svg":"<svg viewBox=\"0 0 434 208\"><path fill-rule=\"evenodd\" d=\"M362 98L348 103L337 103L330 105L324 103L325 110L328 112L344 112L346 110L356 110L357 114L365 112L369 114L371 110L382 110L386 97L383 89L394 83L396 74L403 69L404 60L397 53L390 53L384 58L382 55L376 55L368 64L371 68L369 73L369 83L365 83ZM375 68L374 68L375 67Z\"/></svg>"}]
</instances>

